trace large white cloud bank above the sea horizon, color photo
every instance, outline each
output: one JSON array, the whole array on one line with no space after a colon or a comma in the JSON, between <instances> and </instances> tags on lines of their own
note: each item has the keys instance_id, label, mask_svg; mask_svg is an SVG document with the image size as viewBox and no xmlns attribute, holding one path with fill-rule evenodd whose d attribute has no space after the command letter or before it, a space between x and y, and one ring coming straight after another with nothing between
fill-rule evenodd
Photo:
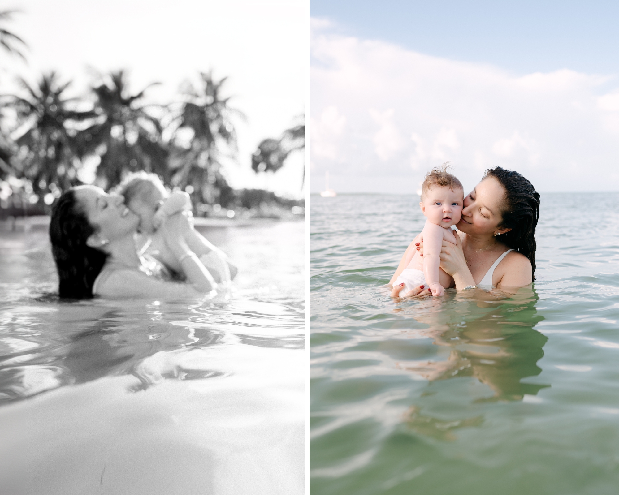
<instances>
[{"instance_id":1,"label":"large white cloud bank above the sea horizon, color photo","mask_svg":"<svg viewBox=\"0 0 619 495\"><path fill-rule=\"evenodd\" d=\"M309 125L331 107L345 122L337 139L311 130L312 191L328 169L342 192L411 192L444 161L467 188L501 165L539 191L619 190L619 88L608 90L609 77L514 75L319 22L310 48Z\"/></svg>"}]
</instances>

